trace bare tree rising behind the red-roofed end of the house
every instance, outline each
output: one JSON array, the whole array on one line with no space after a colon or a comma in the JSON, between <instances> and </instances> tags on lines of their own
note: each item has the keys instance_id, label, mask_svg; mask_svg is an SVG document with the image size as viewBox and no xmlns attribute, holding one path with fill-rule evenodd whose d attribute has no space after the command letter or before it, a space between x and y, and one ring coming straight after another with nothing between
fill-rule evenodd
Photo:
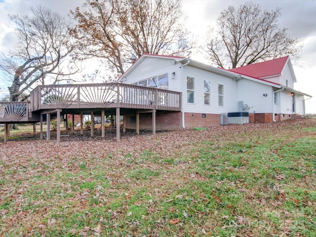
<instances>
[{"instance_id":1,"label":"bare tree rising behind the red-roofed end of the house","mask_svg":"<svg viewBox=\"0 0 316 237\"><path fill-rule=\"evenodd\" d=\"M217 19L217 30L211 28L204 48L206 59L220 67L240 67L280 56L299 57L302 44L279 29L280 9L268 12L258 4L247 2L229 6Z\"/></svg>"}]
</instances>

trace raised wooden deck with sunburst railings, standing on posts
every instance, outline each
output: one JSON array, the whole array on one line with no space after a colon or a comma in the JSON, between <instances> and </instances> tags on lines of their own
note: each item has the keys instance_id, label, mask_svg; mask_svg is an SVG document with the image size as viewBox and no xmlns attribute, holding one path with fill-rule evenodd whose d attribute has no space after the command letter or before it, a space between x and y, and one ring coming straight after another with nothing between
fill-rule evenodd
<instances>
[{"instance_id":1,"label":"raised wooden deck with sunburst railings, standing on posts","mask_svg":"<svg viewBox=\"0 0 316 237\"><path fill-rule=\"evenodd\" d=\"M181 103L181 92L123 83L39 85L30 93L29 102L0 102L0 123L42 123L44 114L60 118L63 114L104 115L105 110L119 116L120 109L135 110L135 114L181 111Z\"/></svg>"}]
</instances>

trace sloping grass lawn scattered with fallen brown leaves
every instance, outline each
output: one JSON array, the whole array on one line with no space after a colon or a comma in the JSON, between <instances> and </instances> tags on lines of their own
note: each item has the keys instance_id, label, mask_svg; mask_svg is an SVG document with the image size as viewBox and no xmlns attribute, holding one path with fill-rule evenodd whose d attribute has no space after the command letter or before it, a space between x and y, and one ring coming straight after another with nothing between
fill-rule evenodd
<instances>
[{"instance_id":1,"label":"sloping grass lawn scattered with fallen brown leaves","mask_svg":"<svg viewBox=\"0 0 316 237\"><path fill-rule=\"evenodd\" d=\"M316 236L316 119L78 137L0 133L1 237Z\"/></svg>"}]
</instances>

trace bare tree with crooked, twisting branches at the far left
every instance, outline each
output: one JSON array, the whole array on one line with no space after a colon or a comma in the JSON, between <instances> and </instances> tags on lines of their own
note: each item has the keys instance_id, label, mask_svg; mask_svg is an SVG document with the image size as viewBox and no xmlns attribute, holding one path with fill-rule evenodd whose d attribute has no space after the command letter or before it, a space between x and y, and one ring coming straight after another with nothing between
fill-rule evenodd
<instances>
[{"instance_id":1,"label":"bare tree with crooked, twisting branches at the far left","mask_svg":"<svg viewBox=\"0 0 316 237\"><path fill-rule=\"evenodd\" d=\"M33 15L10 15L18 42L0 54L0 71L11 79L10 101L24 101L39 84L57 83L79 71L68 29L70 21L42 6Z\"/></svg>"}]
</instances>

